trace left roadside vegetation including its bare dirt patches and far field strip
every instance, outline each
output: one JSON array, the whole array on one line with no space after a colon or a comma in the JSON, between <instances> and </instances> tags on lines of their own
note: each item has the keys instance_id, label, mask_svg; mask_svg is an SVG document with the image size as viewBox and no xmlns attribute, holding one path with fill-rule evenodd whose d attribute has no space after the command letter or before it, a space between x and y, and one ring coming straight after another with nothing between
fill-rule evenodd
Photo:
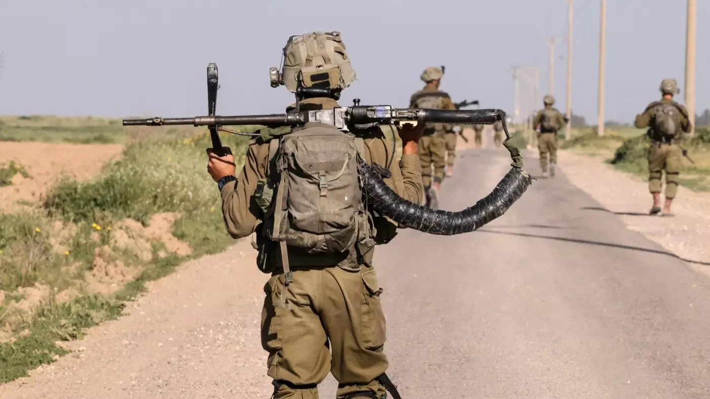
<instances>
[{"instance_id":1,"label":"left roadside vegetation including its bare dirt patches and far field strip","mask_svg":"<svg viewBox=\"0 0 710 399\"><path fill-rule=\"evenodd\" d=\"M111 130L116 122L101 120L104 128L97 130L77 125L49 140L77 142L99 132L126 142L121 159L90 181L59 181L40 206L0 214L0 383L66 354L61 342L121 315L147 281L234 242L205 172L209 134L195 128L120 133ZM244 154L246 138L222 139ZM243 156L236 158L239 167ZM23 173L16 164L0 169L2 181L16 173Z\"/></svg>"}]
</instances>

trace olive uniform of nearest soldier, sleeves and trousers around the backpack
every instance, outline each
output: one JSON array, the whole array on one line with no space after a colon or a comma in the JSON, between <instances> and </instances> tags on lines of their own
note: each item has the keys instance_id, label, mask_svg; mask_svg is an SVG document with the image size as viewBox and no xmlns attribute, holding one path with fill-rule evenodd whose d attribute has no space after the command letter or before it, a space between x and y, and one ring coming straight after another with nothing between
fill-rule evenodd
<instances>
[{"instance_id":1,"label":"olive uniform of nearest soldier, sleeves and trousers around the backpack","mask_svg":"<svg viewBox=\"0 0 710 399\"><path fill-rule=\"evenodd\" d=\"M332 99L309 99L302 104L325 109L338 106ZM420 203L419 157L411 154L393 159L392 142L384 134L366 138L366 162L389 165L392 176L385 179L388 186L408 201ZM261 234L264 215L254 193L258 182L266 179L268 157L268 142L253 140L238 180L222 189L224 223L234 238ZM397 226L382 218L378 223L375 241L388 242ZM386 324L372 254L373 249L363 254L360 262L339 265L323 264L322 257L312 255L314 266L292 266L293 282L287 297L290 310L279 305L285 277L278 269L278 256L267 255L275 262L275 271L264 287L261 336L269 353L268 375L277 388L275 398L317 398L317 384L328 372L341 384L337 398L356 392L375 393L378 398L385 395L377 378L388 366L383 353Z\"/></svg>"}]
</instances>

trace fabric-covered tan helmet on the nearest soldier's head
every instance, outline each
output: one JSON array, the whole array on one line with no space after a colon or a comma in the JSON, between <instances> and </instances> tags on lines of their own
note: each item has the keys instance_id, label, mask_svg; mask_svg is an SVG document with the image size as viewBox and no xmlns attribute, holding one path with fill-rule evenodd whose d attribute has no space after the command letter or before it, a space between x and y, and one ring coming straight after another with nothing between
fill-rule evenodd
<instances>
[{"instance_id":1,"label":"fabric-covered tan helmet on the nearest soldier's head","mask_svg":"<svg viewBox=\"0 0 710 399\"><path fill-rule=\"evenodd\" d=\"M305 87L344 89L355 80L355 71L339 32L313 32L291 36L283 47L281 71L269 70L271 86L286 86L295 93Z\"/></svg>"}]
</instances>

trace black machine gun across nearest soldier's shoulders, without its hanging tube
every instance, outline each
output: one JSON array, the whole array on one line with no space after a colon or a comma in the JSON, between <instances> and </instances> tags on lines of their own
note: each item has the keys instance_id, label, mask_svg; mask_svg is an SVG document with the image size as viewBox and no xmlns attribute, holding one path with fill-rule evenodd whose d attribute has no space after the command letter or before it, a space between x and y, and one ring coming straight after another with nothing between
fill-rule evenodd
<instances>
[{"instance_id":1,"label":"black machine gun across nearest soldier's shoulders, without its hanging tube","mask_svg":"<svg viewBox=\"0 0 710 399\"><path fill-rule=\"evenodd\" d=\"M393 108L392 106L360 106L360 100L354 99L354 105L349 107L337 107L332 109L295 111L288 113L277 113L270 115L248 115L248 116L217 116L215 108L217 103L217 64L209 64L207 67L207 94L208 113L207 116L195 116L192 118L162 118L156 116L148 119L124 119L124 126L163 126L163 125L193 125L209 127L212 147L215 152L222 148L222 141L219 139L218 130L231 132L222 126L234 125L265 125L268 127L298 126L308 122L326 123L344 132L354 134L361 130L363 125L393 125L395 123L416 121L417 123L451 123L451 124L482 124L491 125L501 120L506 125L506 113L500 109L476 109L476 110L441 110L441 109L415 109L415 108ZM310 97L330 96L331 89L303 87L299 86L296 92L297 103L301 99ZM477 103L478 101L476 101ZM471 101L471 103L474 103ZM506 137L510 137L507 127Z\"/></svg>"}]
</instances>

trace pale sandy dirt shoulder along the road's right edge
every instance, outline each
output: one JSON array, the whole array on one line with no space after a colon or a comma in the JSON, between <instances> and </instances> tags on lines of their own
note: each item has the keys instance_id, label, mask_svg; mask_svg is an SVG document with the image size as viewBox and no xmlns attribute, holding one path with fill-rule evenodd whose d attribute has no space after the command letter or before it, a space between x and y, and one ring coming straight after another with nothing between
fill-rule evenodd
<instances>
[{"instance_id":1,"label":"pale sandy dirt shoulder along the road's right edge","mask_svg":"<svg viewBox=\"0 0 710 399\"><path fill-rule=\"evenodd\" d=\"M649 216L652 204L643 177L618 172L603 157L559 152L559 166L572 184L589 193L602 208L588 212L613 212L629 230L640 232L710 275L710 193L679 187L673 217Z\"/></svg>"}]
</instances>

